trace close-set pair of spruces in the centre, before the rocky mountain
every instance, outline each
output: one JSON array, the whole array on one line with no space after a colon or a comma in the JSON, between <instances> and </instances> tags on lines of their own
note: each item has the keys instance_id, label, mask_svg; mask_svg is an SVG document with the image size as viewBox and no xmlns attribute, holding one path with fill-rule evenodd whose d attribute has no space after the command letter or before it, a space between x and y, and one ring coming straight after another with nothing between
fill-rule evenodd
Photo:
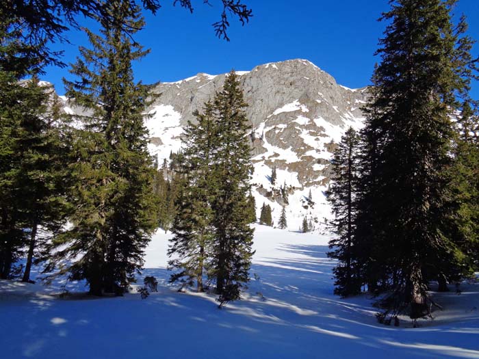
<instances>
[{"instance_id":1,"label":"close-set pair of spruces in the centre, before the rocky mountain","mask_svg":"<svg viewBox=\"0 0 479 359\"><path fill-rule=\"evenodd\" d=\"M177 171L182 185L177 197L168 254L172 281L198 285L203 273L216 282L220 306L239 299L248 282L253 252L254 198L250 191L250 147L244 136L249 126L235 72L203 113L189 123Z\"/></svg>"}]
</instances>

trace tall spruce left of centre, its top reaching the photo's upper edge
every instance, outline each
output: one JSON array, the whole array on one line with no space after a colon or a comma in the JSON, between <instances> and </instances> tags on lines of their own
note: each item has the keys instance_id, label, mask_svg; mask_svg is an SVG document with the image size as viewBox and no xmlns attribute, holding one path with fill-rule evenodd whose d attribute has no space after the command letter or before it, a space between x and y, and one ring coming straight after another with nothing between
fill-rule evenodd
<instances>
[{"instance_id":1,"label":"tall spruce left of centre, its top reaching the photo's upper edge","mask_svg":"<svg viewBox=\"0 0 479 359\"><path fill-rule=\"evenodd\" d=\"M86 279L94 295L127 290L157 222L155 169L143 124L148 88L133 82L131 70L131 62L146 55L130 37L144 23L139 8L130 5L105 5L112 22L98 19L101 35L86 29L92 49L80 49L83 58L71 70L80 79L66 83L67 95L88 111L73 144L73 227L53 243L57 250L46 270L69 259L58 274Z\"/></svg>"}]
</instances>

